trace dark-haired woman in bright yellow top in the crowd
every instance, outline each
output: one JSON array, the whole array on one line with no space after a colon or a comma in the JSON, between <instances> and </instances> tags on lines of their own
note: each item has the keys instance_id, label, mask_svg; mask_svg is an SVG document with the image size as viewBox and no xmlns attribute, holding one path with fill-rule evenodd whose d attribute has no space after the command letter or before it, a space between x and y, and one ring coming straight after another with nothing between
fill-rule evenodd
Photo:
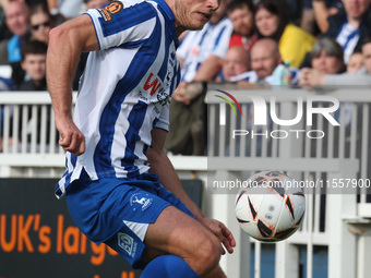
<instances>
[{"instance_id":1,"label":"dark-haired woman in bright yellow top in the crowd","mask_svg":"<svg viewBox=\"0 0 371 278\"><path fill-rule=\"evenodd\" d=\"M258 36L275 39L283 60L288 60L295 68L300 67L315 43L311 34L288 23L282 5L275 0L261 0L256 4L255 25Z\"/></svg>"}]
</instances>

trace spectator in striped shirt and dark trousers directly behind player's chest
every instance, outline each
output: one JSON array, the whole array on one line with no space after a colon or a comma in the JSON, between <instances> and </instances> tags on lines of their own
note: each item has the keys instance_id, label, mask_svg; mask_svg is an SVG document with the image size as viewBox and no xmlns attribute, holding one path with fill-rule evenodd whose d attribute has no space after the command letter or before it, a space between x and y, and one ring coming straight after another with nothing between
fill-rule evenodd
<instances>
[{"instance_id":1,"label":"spectator in striped shirt and dark trousers directly behind player's chest","mask_svg":"<svg viewBox=\"0 0 371 278\"><path fill-rule=\"evenodd\" d=\"M222 70L234 29L226 16L227 4L228 0L223 0L204 28L189 32L177 50L183 67L181 83L171 96L170 130L165 144L173 154L205 153L206 87L194 82L213 81Z\"/></svg>"}]
</instances>

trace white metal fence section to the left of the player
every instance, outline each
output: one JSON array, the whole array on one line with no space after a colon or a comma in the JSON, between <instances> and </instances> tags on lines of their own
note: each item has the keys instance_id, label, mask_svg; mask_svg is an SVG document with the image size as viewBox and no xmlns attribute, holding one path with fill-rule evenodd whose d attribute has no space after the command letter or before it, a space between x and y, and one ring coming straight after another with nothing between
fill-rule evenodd
<instances>
[{"instance_id":1,"label":"white metal fence section to the left of the player","mask_svg":"<svg viewBox=\"0 0 371 278\"><path fill-rule=\"evenodd\" d=\"M58 137L48 92L0 92L1 177L61 174Z\"/></svg>"}]
</instances>

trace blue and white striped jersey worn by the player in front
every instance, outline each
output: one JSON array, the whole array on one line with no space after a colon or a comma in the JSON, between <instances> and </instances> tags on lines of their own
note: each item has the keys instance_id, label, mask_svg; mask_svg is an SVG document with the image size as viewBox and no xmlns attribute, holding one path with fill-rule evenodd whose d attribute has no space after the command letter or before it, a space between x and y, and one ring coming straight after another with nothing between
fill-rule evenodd
<instances>
[{"instance_id":1,"label":"blue and white striped jersey worn by the player in front","mask_svg":"<svg viewBox=\"0 0 371 278\"><path fill-rule=\"evenodd\" d=\"M146 172L151 131L168 130L180 81L175 17L165 1L113 1L87 14L100 49L88 56L74 110L86 148L79 157L67 153L57 197L83 169L92 180Z\"/></svg>"}]
</instances>

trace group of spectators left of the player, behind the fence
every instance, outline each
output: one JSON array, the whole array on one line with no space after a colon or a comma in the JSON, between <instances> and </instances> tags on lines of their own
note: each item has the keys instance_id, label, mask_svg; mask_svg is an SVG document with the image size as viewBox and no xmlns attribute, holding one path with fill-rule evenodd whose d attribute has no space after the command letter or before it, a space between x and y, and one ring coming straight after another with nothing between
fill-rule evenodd
<instances>
[{"instance_id":1,"label":"group of spectators left of the player, behind the fence","mask_svg":"<svg viewBox=\"0 0 371 278\"><path fill-rule=\"evenodd\" d=\"M72 19L87 9L97 9L110 0L1 0L0 1L0 68L11 68L11 76L2 76L0 71L0 92L28 90L47 92L46 82L46 57L49 41L49 32L52 27ZM79 80L84 71L87 53L81 56L81 62L76 69L73 89L79 88ZM41 107L38 107L40 116ZM48 112L48 114L50 114ZM28 123L32 121L31 110ZM9 134L10 145L15 140L13 134L19 134L21 140L22 130L27 126L19 121L19 131L14 133L12 126ZM22 119L22 114L21 114ZM40 117L38 117L40 119ZM0 104L0 152L2 150L4 111ZM50 122L50 119L48 119ZM37 142L40 141L39 126L37 123ZM49 126L49 124L48 124ZM49 132L49 128L48 128ZM27 141L31 141L29 134ZM56 138L56 142L58 138ZM51 142L49 142L51 143Z\"/></svg>"}]
</instances>

